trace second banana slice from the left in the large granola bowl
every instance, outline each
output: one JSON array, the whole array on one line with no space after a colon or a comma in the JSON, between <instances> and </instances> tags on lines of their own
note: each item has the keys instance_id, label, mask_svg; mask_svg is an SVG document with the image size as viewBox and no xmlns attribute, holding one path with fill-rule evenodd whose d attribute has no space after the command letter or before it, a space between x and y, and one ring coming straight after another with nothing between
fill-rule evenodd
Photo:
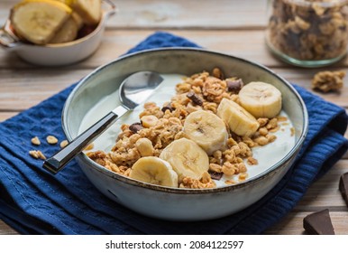
<instances>
[{"instance_id":1,"label":"second banana slice from the left in the large granola bowl","mask_svg":"<svg viewBox=\"0 0 348 253\"><path fill-rule=\"evenodd\" d=\"M183 177L200 179L209 169L206 152L194 141L181 138L167 145L160 153L160 158L169 162L178 173L179 181Z\"/></svg>"}]
</instances>

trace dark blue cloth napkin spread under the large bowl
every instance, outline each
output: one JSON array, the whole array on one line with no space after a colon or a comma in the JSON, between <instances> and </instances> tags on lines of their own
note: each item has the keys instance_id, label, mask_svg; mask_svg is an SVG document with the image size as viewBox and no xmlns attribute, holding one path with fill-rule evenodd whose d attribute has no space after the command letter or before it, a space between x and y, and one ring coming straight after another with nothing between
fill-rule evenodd
<instances>
[{"instance_id":1,"label":"dark blue cloth napkin spread under the large bowl","mask_svg":"<svg viewBox=\"0 0 348 253\"><path fill-rule=\"evenodd\" d=\"M130 52L197 44L169 33L154 33ZM296 164L261 201L229 217L203 222L170 222L139 215L105 198L75 161L56 176L32 159L32 136L65 139L60 114L74 85L0 124L0 219L23 234L259 234L297 204L317 177L348 148L343 108L295 86L306 102L309 132ZM59 145L42 141L53 155Z\"/></svg>"}]
</instances>

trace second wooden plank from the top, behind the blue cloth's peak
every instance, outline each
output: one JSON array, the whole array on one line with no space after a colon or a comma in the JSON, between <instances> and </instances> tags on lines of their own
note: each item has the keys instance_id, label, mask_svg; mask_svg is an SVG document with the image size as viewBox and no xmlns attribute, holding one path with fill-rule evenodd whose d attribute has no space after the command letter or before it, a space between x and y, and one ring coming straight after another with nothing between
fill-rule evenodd
<instances>
[{"instance_id":1,"label":"second wooden plank from the top, behind the blue cloth's peak","mask_svg":"<svg viewBox=\"0 0 348 253\"><path fill-rule=\"evenodd\" d=\"M87 58L86 61L73 64L70 68L91 68L103 65L109 61L114 61L120 55L124 54L137 43L142 42L146 37L150 36L158 30L106 30L102 43L96 53ZM196 42L201 47L231 54L237 57L245 58L249 61L261 63L270 68L288 68L288 64L279 61L268 50L264 42L264 31L253 30L162 30L163 32L173 33L178 36L187 38L191 42ZM21 61L15 52L0 50L0 69L12 68L33 69L33 66L25 61ZM348 60L343 59L330 68L342 69L348 67ZM327 70L330 68L312 70ZM300 68L292 68L293 70L303 70Z\"/></svg>"}]
</instances>

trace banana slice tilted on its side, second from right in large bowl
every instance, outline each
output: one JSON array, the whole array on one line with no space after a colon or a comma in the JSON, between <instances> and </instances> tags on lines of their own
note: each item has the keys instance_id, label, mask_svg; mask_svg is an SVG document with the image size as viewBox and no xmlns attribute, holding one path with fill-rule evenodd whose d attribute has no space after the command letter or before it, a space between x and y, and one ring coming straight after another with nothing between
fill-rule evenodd
<instances>
[{"instance_id":1,"label":"banana slice tilted on its side, second from right in large bowl","mask_svg":"<svg viewBox=\"0 0 348 253\"><path fill-rule=\"evenodd\" d=\"M234 101L223 98L217 108L216 115L238 136L252 136L260 124L248 111Z\"/></svg>"}]
</instances>

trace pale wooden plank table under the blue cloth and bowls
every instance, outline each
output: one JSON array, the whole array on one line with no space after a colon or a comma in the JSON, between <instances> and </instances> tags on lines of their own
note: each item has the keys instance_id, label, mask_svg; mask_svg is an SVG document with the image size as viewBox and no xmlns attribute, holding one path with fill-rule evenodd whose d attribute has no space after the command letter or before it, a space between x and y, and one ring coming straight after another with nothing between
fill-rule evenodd
<instances>
[{"instance_id":1,"label":"pale wooden plank table under the blue cloth and bowls","mask_svg":"<svg viewBox=\"0 0 348 253\"><path fill-rule=\"evenodd\" d=\"M0 24L5 23L16 0L0 1ZM289 66L275 59L264 44L266 0L114 0L119 13L109 20L98 51L86 61L60 68L27 64L0 49L0 121L31 108L96 69L112 61L151 33L161 30L188 38L209 50L257 61L285 79L310 89L318 71ZM347 70L348 60L325 70ZM345 83L348 83L345 80ZM340 94L317 95L348 107L348 86ZM302 234L302 220L310 212L330 210L336 234L348 234L348 209L338 191L338 180L348 172L347 156L320 180L278 224L265 234ZM0 220L0 234L16 234Z\"/></svg>"}]
</instances>

